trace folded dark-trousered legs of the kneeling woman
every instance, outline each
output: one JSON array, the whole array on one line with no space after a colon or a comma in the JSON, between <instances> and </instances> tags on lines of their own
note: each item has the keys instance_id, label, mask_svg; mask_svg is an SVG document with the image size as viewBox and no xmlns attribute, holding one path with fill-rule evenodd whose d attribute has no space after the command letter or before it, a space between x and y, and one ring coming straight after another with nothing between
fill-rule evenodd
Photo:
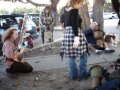
<instances>
[{"instance_id":1,"label":"folded dark-trousered legs of the kneeling woman","mask_svg":"<svg viewBox=\"0 0 120 90\"><path fill-rule=\"evenodd\" d=\"M6 69L7 73L30 73L32 71L32 66L27 62L14 62L10 68Z\"/></svg>"}]
</instances>

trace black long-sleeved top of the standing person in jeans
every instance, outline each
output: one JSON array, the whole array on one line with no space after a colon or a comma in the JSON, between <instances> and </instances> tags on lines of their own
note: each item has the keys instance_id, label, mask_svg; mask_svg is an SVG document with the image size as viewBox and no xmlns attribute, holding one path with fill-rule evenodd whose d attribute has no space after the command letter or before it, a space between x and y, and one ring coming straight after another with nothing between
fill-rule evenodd
<instances>
[{"instance_id":1,"label":"black long-sleeved top of the standing person in jeans","mask_svg":"<svg viewBox=\"0 0 120 90\"><path fill-rule=\"evenodd\" d=\"M81 28L81 23L82 23L82 19L79 16L79 11L78 9L71 9L70 11L66 11L64 12L64 16L62 16L63 22L64 22L64 26L71 26L73 29L73 33L75 36L78 36L78 28ZM62 21L61 20L61 21Z\"/></svg>"}]
</instances>

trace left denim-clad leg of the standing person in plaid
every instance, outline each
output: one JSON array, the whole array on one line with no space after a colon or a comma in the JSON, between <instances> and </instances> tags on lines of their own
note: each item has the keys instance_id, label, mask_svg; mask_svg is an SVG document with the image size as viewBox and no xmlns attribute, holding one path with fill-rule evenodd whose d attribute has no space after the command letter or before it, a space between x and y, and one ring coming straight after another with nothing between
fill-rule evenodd
<instances>
[{"instance_id":1,"label":"left denim-clad leg of the standing person in plaid","mask_svg":"<svg viewBox=\"0 0 120 90\"><path fill-rule=\"evenodd\" d=\"M74 80L78 77L78 69L75 62L75 57L69 58L69 67L70 67L70 79Z\"/></svg>"}]
</instances>

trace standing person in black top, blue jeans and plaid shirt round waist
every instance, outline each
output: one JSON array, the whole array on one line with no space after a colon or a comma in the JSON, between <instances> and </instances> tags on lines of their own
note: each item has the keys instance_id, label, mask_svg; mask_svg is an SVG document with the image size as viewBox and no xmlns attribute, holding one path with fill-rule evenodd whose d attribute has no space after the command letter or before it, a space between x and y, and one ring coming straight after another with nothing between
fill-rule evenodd
<instances>
[{"instance_id":1,"label":"standing person in black top, blue jeans and plaid shirt round waist","mask_svg":"<svg viewBox=\"0 0 120 90\"><path fill-rule=\"evenodd\" d=\"M64 12L64 40L61 47L61 54L69 58L70 79L78 77L85 78L87 72L87 41L81 30L82 19L79 16L79 9L84 0L70 0ZM80 58L79 70L76 65L76 58Z\"/></svg>"}]
</instances>

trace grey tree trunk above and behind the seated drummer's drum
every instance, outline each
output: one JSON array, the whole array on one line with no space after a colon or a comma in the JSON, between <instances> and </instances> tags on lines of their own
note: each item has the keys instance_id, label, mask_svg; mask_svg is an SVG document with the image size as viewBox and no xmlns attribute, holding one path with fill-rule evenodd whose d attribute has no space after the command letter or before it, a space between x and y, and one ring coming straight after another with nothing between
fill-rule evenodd
<instances>
[{"instance_id":1,"label":"grey tree trunk above and behind the seated drummer's drum","mask_svg":"<svg viewBox=\"0 0 120 90\"><path fill-rule=\"evenodd\" d=\"M93 4L93 22L97 22L99 29L103 30L104 20L103 20L103 5L105 0L94 0Z\"/></svg>"}]
</instances>

